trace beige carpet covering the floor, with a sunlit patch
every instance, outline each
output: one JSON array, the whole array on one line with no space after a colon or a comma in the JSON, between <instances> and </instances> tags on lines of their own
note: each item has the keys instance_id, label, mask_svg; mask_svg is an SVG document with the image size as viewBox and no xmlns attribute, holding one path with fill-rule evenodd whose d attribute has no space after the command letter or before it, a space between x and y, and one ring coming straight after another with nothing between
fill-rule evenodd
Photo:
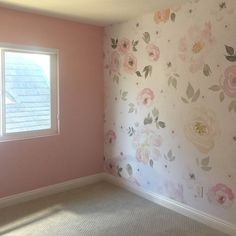
<instances>
[{"instance_id":1,"label":"beige carpet covering the floor, with a sunlit patch","mask_svg":"<svg viewBox=\"0 0 236 236\"><path fill-rule=\"evenodd\" d=\"M6 236L225 236L107 183L0 209Z\"/></svg>"}]
</instances>

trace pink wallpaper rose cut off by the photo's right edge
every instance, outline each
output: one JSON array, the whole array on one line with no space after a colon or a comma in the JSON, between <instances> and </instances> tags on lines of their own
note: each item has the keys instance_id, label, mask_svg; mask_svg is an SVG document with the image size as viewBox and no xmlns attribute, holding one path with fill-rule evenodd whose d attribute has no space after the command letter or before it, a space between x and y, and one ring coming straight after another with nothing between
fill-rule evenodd
<instances>
[{"instance_id":1,"label":"pink wallpaper rose cut off by the photo's right edge","mask_svg":"<svg viewBox=\"0 0 236 236\"><path fill-rule=\"evenodd\" d=\"M236 65L225 70L224 92L229 97L236 97Z\"/></svg>"}]
</instances>

